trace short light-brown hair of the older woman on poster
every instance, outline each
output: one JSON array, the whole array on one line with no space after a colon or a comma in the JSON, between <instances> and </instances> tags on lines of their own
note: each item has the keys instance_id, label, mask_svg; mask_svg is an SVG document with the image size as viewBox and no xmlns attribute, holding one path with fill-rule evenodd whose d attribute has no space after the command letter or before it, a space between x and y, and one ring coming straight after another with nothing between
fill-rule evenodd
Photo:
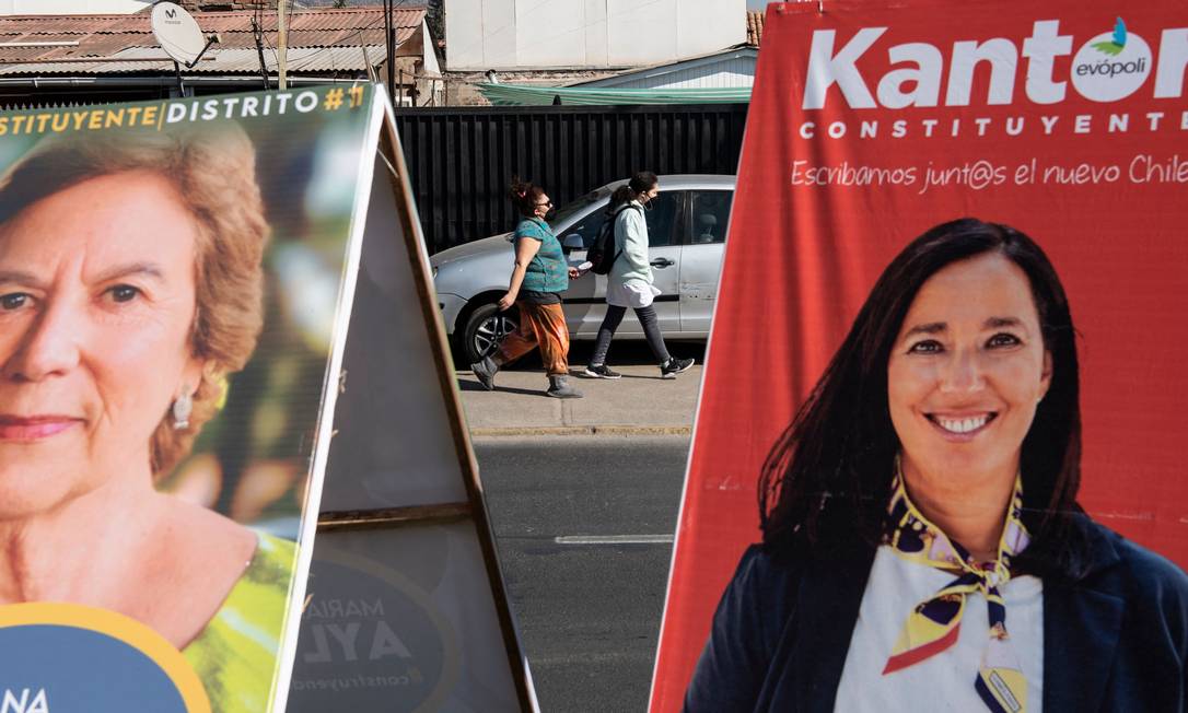
<instances>
[{"instance_id":1,"label":"short light-brown hair of the older woman on poster","mask_svg":"<svg viewBox=\"0 0 1188 713\"><path fill-rule=\"evenodd\" d=\"M164 414L151 466L169 473L214 416L227 374L244 368L264 323L264 248L268 225L255 179L255 149L233 122L46 138L0 177L0 225L88 178L150 171L177 189L198 228L191 349L206 361L190 424Z\"/></svg>"}]
</instances>

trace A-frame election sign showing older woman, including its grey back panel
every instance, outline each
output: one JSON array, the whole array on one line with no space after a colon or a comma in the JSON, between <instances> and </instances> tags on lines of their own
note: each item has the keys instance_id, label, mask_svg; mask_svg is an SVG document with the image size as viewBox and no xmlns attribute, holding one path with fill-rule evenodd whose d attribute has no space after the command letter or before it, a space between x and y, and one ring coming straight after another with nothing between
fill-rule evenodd
<instances>
[{"instance_id":1,"label":"A-frame election sign showing older woman, including its grey back panel","mask_svg":"<svg viewBox=\"0 0 1188 713\"><path fill-rule=\"evenodd\" d=\"M387 107L0 115L0 709L527 707Z\"/></svg>"}]
</instances>

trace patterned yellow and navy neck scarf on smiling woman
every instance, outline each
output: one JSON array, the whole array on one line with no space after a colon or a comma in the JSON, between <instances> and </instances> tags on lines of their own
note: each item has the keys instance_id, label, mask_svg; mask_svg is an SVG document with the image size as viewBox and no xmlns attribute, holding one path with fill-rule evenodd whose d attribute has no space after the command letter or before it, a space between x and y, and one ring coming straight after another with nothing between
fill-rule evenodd
<instances>
[{"instance_id":1,"label":"patterned yellow and navy neck scarf on smiling woman","mask_svg":"<svg viewBox=\"0 0 1188 713\"><path fill-rule=\"evenodd\" d=\"M990 613L990 638L981 655L974 689L994 713L1026 712L1028 684L1006 633L1006 607L999 593L999 587L1011 579L1011 557L1028 547L1029 536L1020 519L1022 511L1023 480L1016 475L1015 494L1006 512L1003 537L998 542L998 559L975 562L963 547L949 540L916 510L908 498L897 463L891 504L887 506L890 529L884 543L909 562L935 567L956 575L956 579L916 605L908 616L883 675L920 663L955 644L966 597L981 592L986 595Z\"/></svg>"}]
</instances>

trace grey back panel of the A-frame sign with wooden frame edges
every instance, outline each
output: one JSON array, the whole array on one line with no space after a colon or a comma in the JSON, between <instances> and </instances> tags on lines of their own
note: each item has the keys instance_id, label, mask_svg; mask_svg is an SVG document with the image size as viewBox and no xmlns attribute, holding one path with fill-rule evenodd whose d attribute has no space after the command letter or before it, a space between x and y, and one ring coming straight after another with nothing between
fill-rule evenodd
<instances>
[{"instance_id":1,"label":"grey back panel of the A-frame sign with wooden frame edges","mask_svg":"<svg viewBox=\"0 0 1188 713\"><path fill-rule=\"evenodd\" d=\"M394 121L377 134L287 711L535 711Z\"/></svg>"}]
</instances>

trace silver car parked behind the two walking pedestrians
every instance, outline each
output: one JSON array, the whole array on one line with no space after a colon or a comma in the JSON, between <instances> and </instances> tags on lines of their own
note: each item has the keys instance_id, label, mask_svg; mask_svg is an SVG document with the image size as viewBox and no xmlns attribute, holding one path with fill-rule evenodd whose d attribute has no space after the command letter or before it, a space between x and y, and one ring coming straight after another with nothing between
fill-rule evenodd
<instances>
[{"instance_id":1,"label":"silver car parked behind the two walking pedestrians","mask_svg":"<svg viewBox=\"0 0 1188 713\"><path fill-rule=\"evenodd\" d=\"M726 222L734 196L734 176L661 176L661 194L644 213L649 257L656 286L656 315L665 337L709 336L718 277L726 241ZM549 220L569 254L570 264L586 250L606 217L617 181L558 209ZM495 302L507 291L514 248L504 233L442 251L429 259L437 301L450 335L467 362L489 354L516 329L518 313L500 313ZM594 339L606 313L606 276L587 273L570 280L564 299L573 339ZM634 315L624 320L615 337L643 339Z\"/></svg>"}]
</instances>

